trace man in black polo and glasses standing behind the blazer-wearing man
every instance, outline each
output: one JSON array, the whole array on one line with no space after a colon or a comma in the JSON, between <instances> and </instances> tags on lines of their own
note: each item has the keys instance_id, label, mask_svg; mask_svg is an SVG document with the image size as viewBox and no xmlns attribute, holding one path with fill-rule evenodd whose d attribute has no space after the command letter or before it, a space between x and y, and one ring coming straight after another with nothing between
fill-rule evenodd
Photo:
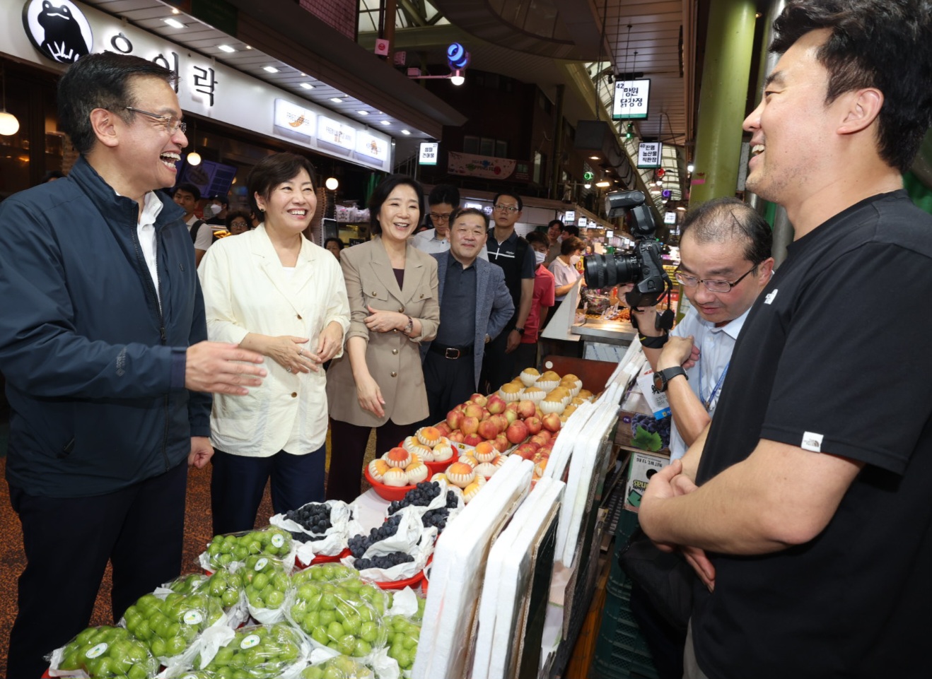
<instances>
[{"instance_id":1,"label":"man in black polo and glasses standing behind the blazer-wearing man","mask_svg":"<svg viewBox=\"0 0 932 679\"><path fill-rule=\"evenodd\" d=\"M528 241L514 233L514 224L521 219L524 203L512 193L500 193L492 206L495 228L489 229L486 251L488 261L499 265L505 273L505 284L512 293L514 316L505 330L486 347L483 373L487 392L494 391L528 366L514 365L514 349L521 344L524 324L534 297L534 269L537 264Z\"/></svg>"}]
</instances>

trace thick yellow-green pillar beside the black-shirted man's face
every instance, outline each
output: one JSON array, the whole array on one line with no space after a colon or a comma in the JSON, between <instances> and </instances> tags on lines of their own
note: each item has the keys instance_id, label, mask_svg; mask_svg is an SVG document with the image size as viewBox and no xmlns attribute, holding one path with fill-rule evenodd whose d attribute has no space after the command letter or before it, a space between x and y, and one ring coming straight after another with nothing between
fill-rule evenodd
<instances>
[{"instance_id":1,"label":"thick yellow-green pillar beside the black-shirted man's face","mask_svg":"<svg viewBox=\"0 0 932 679\"><path fill-rule=\"evenodd\" d=\"M733 196L754 48L755 3L710 3L690 203Z\"/></svg>"}]
</instances>

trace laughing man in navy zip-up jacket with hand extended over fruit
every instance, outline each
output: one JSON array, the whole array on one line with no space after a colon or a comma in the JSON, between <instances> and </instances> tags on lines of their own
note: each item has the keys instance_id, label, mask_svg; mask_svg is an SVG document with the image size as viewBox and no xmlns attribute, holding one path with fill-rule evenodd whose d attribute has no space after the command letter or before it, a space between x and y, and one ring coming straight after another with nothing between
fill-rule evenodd
<instances>
[{"instance_id":1,"label":"laughing man in navy zip-up jacket with hand extended over fruit","mask_svg":"<svg viewBox=\"0 0 932 679\"><path fill-rule=\"evenodd\" d=\"M108 560L115 619L178 576L185 470L213 452L206 392L265 374L258 354L205 341L183 210L156 191L187 145L173 77L113 53L76 61L59 122L81 157L0 204L7 482L27 557L8 676L40 676L88 624Z\"/></svg>"}]
</instances>

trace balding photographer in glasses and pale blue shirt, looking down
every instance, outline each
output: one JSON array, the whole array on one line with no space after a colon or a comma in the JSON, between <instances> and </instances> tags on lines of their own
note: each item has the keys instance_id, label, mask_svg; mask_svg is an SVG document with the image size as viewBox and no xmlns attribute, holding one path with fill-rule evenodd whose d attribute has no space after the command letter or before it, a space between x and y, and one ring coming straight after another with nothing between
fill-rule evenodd
<instances>
[{"instance_id":1,"label":"balding photographer in glasses and pale blue shirt, looking down","mask_svg":"<svg viewBox=\"0 0 932 679\"><path fill-rule=\"evenodd\" d=\"M670 457L677 459L711 421L734 343L754 300L770 281L770 225L735 198L693 210L679 238L676 278L690 309L669 337L654 326L655 311L635 311L655 385L670 401Z\"/></svg>"}]
</instances>

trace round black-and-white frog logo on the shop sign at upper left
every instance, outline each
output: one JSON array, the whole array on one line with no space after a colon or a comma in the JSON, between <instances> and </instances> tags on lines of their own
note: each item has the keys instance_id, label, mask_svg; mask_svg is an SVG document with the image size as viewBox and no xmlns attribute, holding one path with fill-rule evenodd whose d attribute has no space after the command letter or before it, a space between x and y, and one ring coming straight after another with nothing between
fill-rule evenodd
<instances>
[{"instance_id":1,"label":"round black-and-white frog logo on the shop sign at upper left","mask_svg":"<svg viewBox=\"0 0 932 679\"><path fill-rule=\"evenodd\" d=\"M22 26L34 47L59 63L74 63L94 46L88 19L68 0L27 0Z\"/></svg>"}]
</instances>

